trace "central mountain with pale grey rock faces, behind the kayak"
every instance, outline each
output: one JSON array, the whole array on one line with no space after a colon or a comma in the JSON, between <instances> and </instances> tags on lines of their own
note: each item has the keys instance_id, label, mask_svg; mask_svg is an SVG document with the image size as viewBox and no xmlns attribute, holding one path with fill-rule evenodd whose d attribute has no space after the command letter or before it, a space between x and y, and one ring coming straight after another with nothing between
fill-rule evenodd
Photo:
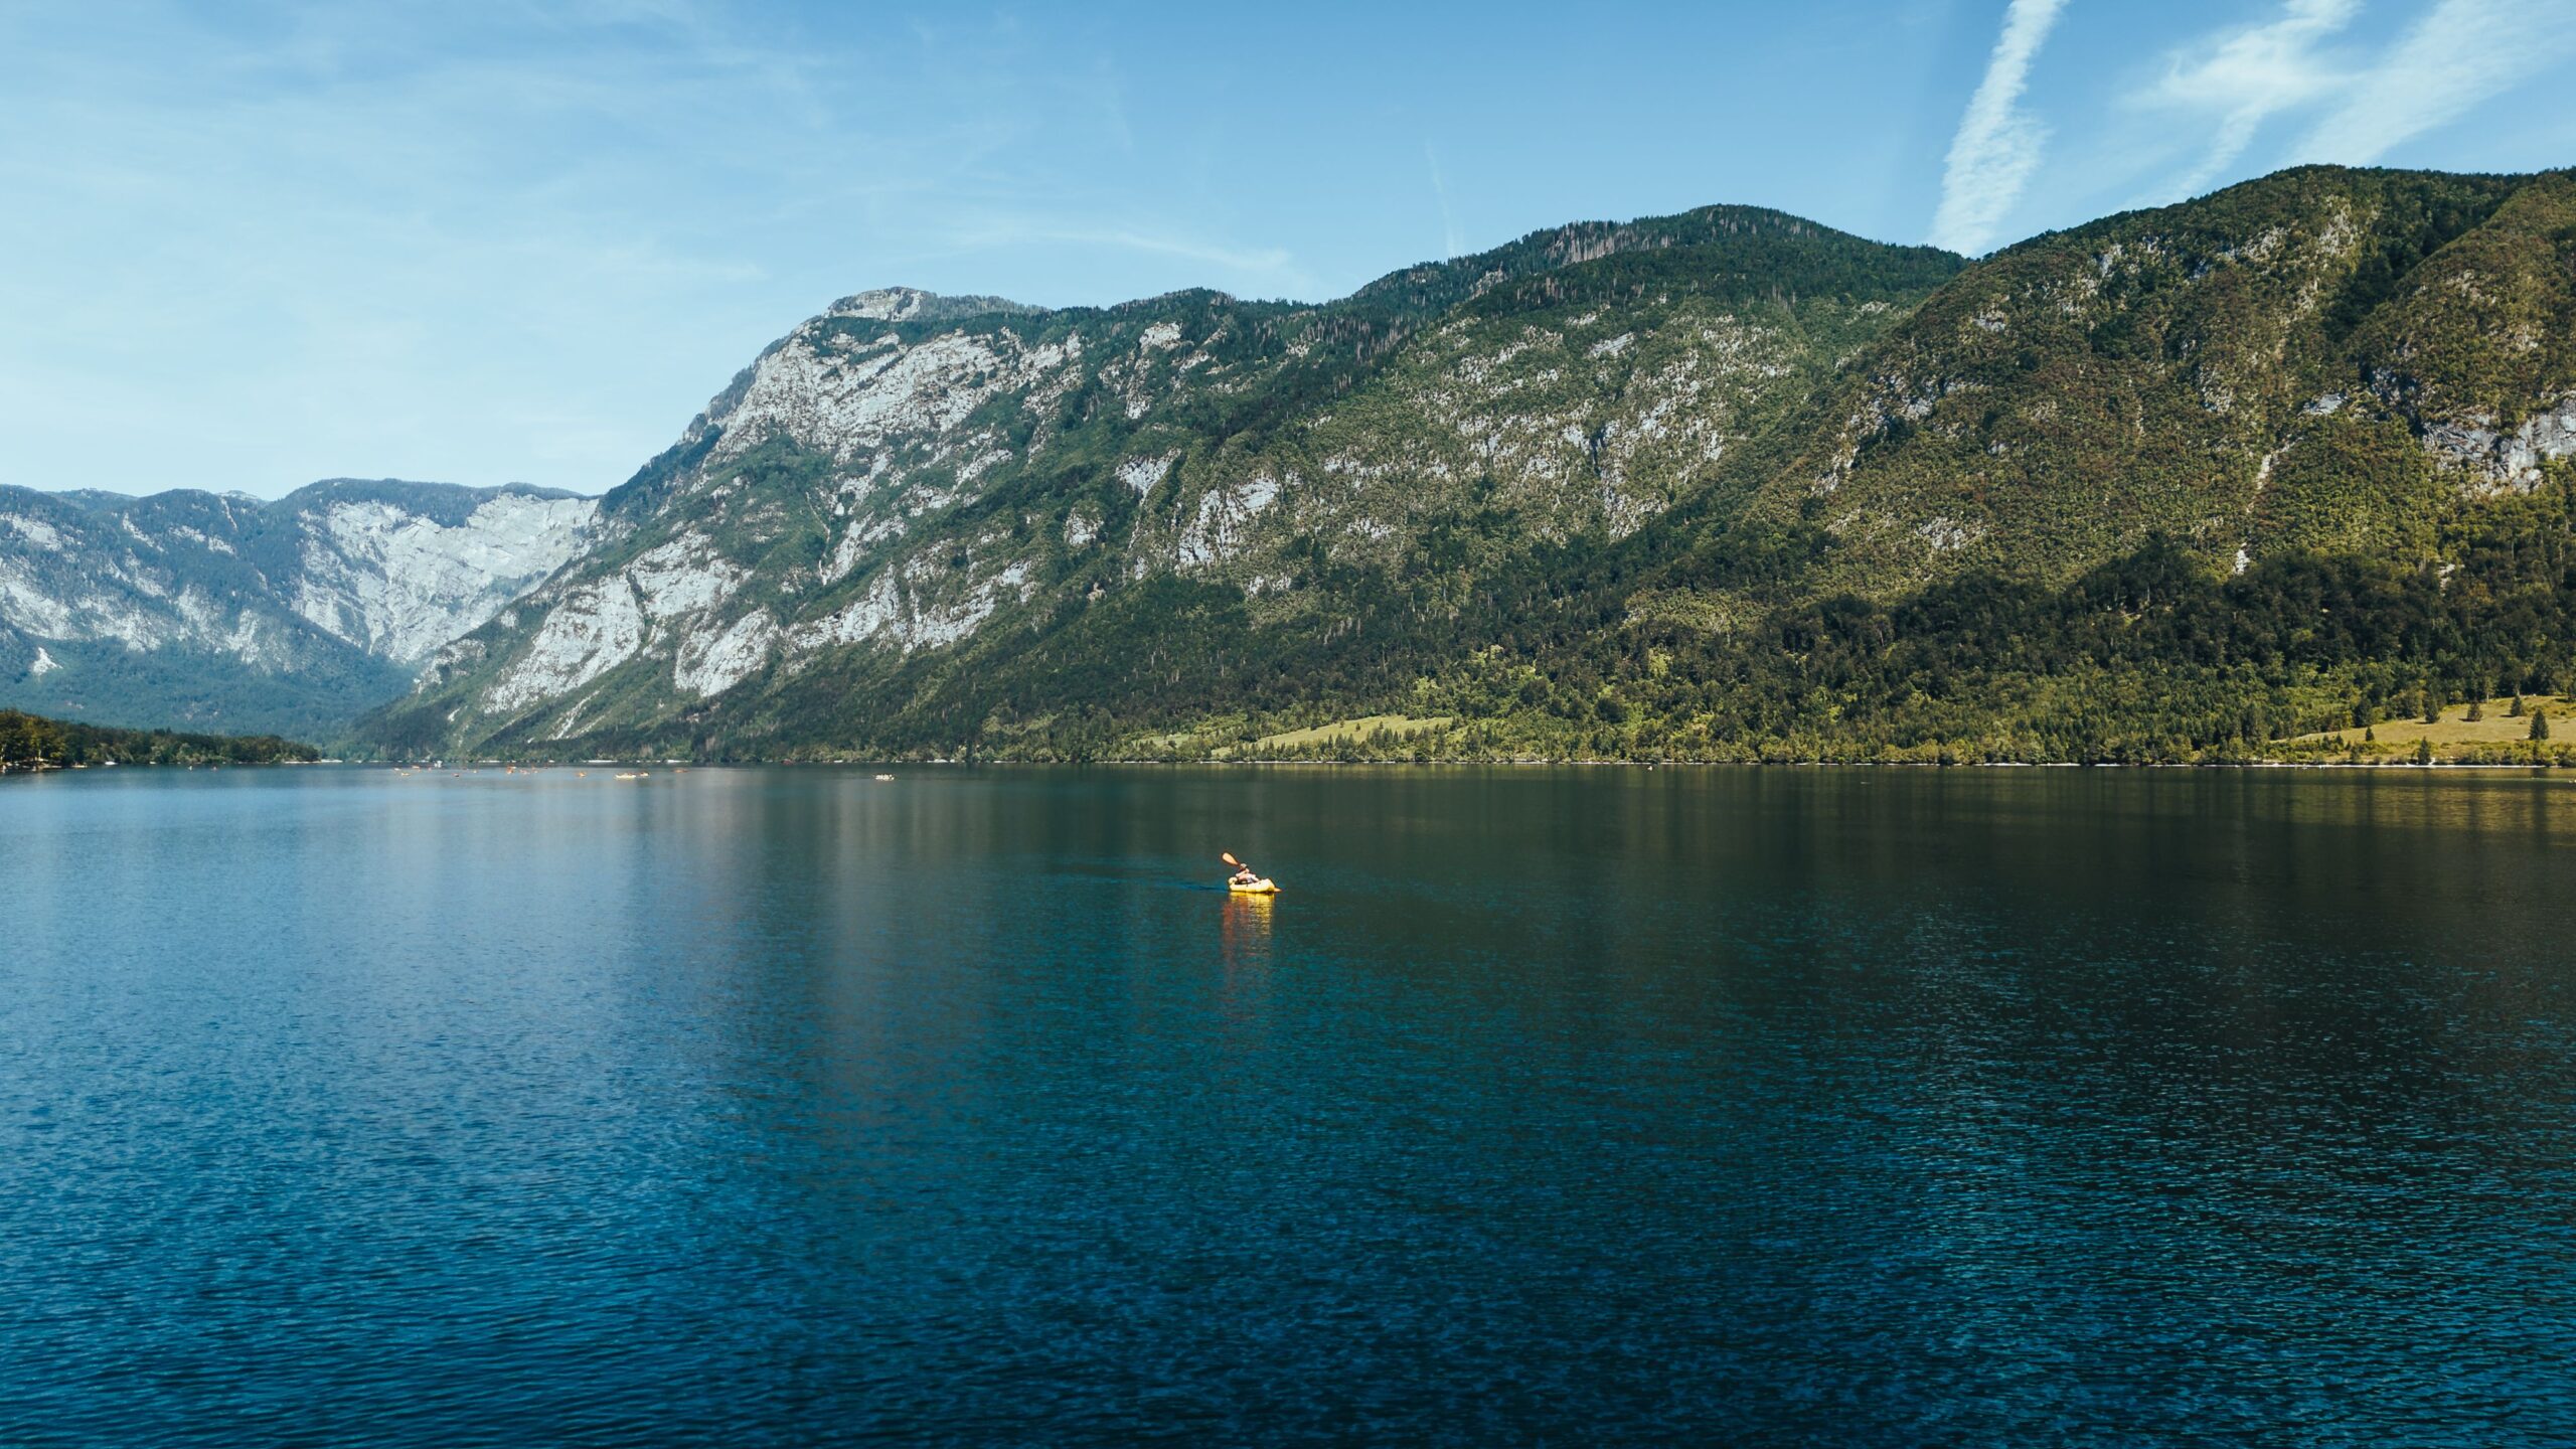
<instances>
[{"instance_id":1,"label":"central mountain with pale grey rock faces, behind the kayak","mask_svg":"<svg viewBox=\"0 0 2576 1449\"><path fill-rule=\"evenodd\" d=\"M773 343L603 500L577 562L366 732L1007 750L1314 670L1399 686L1386 632L1450 632L1747 474L1960 266L1713 206L1321 307L858 294Z\"/></svg>"}]
</instances>

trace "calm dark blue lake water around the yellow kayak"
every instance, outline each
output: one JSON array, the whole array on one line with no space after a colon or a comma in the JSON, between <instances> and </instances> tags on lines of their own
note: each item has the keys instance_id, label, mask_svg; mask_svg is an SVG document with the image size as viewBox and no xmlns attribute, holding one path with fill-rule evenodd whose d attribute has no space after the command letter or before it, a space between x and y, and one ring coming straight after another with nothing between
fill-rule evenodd
<instances>
[{"instance_id":1,"label":"calm dark blue lake water around the yellow kayak","mask_svg":"<svg viewBox=\"0 0 2576 1449\"><path fill-rule=\"evenodd\" d=\"M608 773L0 781L0 1441L2576 1441L2566 781Z\"/></svg>"}]
</instances>

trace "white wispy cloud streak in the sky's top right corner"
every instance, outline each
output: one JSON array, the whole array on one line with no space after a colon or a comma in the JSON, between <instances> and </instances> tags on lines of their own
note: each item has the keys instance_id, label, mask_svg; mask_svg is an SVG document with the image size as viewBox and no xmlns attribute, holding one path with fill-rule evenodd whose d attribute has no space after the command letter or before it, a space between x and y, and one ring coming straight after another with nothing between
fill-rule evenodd
<instances>
[{"instance_id":1,"label":"white wispy cloud streak in the sky's top right corner","mask_svg":"<svg viewBox=\"0 0 2576 1449\"><path fill-rule=\"evenodd\" d=\"M2298 144L2298 160L2370 165L2563 62L2576 44L2568 0L2439 0L2344 88Z\"/></svg>"}]
</instances>

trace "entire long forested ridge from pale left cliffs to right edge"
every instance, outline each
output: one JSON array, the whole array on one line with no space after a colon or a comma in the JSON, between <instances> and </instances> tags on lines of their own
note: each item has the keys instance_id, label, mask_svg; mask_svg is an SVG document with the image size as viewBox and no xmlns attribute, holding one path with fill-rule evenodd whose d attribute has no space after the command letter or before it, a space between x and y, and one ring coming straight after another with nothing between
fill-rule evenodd
<instances>
[{"instance_id":1,"label":"entire long forested ridge from pale left cliffs to right edge","mask_svg":"<svg viewBox=\"0 0 2576 1449\"><path fill-rule=\"evenodd\" d=\"M2568 193L2300 168L1978 263L1708 209L1324 307L860 294L366 732L2208 758L2537 691Z\"/></svg>"}]
</instances>

